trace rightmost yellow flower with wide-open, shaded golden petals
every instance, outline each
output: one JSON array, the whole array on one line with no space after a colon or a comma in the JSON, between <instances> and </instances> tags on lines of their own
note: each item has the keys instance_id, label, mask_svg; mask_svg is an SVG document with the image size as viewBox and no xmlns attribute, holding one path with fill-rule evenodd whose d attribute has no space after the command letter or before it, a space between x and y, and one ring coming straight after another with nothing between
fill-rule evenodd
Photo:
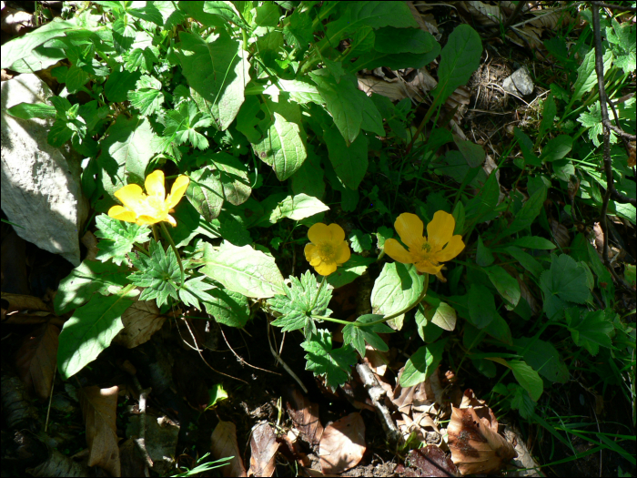
<instances>
[{"instance_id":1,"label":"rightmost yellow flower with wide-open, shaded golden petals","mask_svg":"<svg viewBox=\"0 0 637 478\"><path fill-rule=\"evenodd\" d=\"M455 227L456 219L453 216L445 211L438 211L427 225L426 238L423 236L424 224L420 218L404 212L396 219L394 228L409 250L403 248L398 240L387 239L385 253L391 259L403 264L415 264L419 272L436 274L440 280L445 281L440 273L440 262L455 258L464 249L462 236L453 235Z\"/></svg>"}]
</instances>

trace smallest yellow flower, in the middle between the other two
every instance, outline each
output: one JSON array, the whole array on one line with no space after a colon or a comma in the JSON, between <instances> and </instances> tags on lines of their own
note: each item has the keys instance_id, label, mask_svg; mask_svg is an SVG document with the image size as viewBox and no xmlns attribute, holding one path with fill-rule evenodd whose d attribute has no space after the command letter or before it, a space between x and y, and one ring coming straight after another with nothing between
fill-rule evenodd
<instances>
[{"instance_id":1,"label":"smallest yellow flower, in the middle between the other two","mask_svg":"<svg viewBox=\"0 0 637 478\"><path fill-rule=\"evenodd\" d=\"M321 222L308 229L311 244L305 247L305 259L321 276L329 276L337 266L349 260L345 231L338 224Z\"/></svg>"}]
</instances>

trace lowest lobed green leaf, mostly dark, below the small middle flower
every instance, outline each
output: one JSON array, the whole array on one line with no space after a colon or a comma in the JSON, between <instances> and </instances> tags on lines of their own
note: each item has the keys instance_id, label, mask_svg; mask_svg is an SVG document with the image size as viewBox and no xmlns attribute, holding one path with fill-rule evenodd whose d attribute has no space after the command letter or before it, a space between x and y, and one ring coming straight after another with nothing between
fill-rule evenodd
<instances>
[{"instance_id":1,"label":"lowest lobed green leaf, mostly dark, below the small middle flower","mask_svg":"<svg viewBox=\"0 0 637 478\"><path fill-rule=\"evenodd\" d=\"M311 340L301 343L308 354L305 369L325 377L326 384L335 391L349 379L350 368L356 363L356 352L349 345L332 349L332 334L320 329Z\"/></svg>"}]
</instances>

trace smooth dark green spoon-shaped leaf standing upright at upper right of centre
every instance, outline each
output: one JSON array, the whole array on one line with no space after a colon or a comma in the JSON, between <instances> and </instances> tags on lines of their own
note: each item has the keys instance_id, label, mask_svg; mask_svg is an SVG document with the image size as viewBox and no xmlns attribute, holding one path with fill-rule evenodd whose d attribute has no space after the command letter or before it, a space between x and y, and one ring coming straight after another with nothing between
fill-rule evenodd
<instances>
[{"instance_id":1,"label":"smooth dark green spoon-shaped leaf standing upright at upper right of centre","mask_svg":"<svg viewBox=\"0 0 637 478\"><path fill-rule=\"evenodd\" d=\"M444 103L458 86L466 85L480 65L482 41L469 25L457 26L442 48L438 67L438 86L431 92L436 103Z\"/></svg>"}]
</instances>

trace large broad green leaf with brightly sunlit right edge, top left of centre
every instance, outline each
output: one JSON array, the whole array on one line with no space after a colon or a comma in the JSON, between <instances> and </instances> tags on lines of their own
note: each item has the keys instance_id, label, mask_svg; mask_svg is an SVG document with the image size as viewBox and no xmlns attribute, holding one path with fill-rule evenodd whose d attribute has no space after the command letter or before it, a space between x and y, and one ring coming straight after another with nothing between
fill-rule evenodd
<instances>
[{"instance_id":1,"label":"large broad green leaf with brightly sunlit right edge, top left of centre","mask_svg":"<svg viewBox=\"0 0 637 478\"><path fill-rule=\"evenodd\" d=\"M250 80L245 52L224 30L217 30L207 39L181 32L179 39L177 56L188 85L209 103L217 127L227 129L237 117Z\"/></svg>"}]
</instances>

